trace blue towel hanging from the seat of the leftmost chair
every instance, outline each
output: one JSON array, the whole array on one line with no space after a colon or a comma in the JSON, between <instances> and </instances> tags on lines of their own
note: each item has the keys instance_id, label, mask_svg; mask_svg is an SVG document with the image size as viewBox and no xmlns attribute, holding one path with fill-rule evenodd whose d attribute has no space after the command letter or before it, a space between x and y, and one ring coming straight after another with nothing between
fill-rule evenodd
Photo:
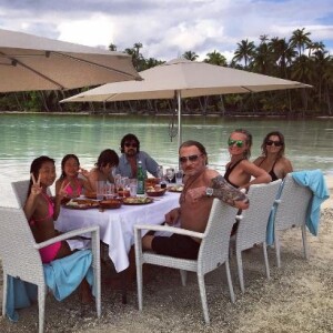
<instances>
[{"instance_id":1,"label":"blue towel hanging from the seat of the leftmost chair","mask_svg":"<svg viewBox=\"0 0 333 333\"><path fill-rule=\"evenodd\" d=\"M58 301L62 301L77 290L84 276L89 284L92 285L93 272L91 263L91 251L82 250L69 256L54 260L49 264L43 264L46 283L52 290ZM30 306L31 302L37 300L37 285L8 276L6 306L8 317L17 322L19 315L16 310Z\"/></svg>"}]
</instances>

